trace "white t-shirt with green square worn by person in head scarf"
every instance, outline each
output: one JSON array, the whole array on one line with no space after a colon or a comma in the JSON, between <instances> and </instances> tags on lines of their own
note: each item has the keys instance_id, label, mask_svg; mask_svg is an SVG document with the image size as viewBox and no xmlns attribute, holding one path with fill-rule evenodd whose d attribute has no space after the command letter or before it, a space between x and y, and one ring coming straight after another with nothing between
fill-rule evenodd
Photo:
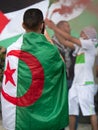
<instances>
[{"instance_id":1,"label":"white t-shirt with green square worn by person in head scarf","mask_svg":"<svg viewBox=\"0 0 98 130\"><path fill-rule=\"evenodd\" d=\"M93 66L96 56L95 45L91 39L80 39L80 41L82 47L75 45L77 56L73 83L78 83L79 85L94 84Z\"/></svg>"}]
</instances>

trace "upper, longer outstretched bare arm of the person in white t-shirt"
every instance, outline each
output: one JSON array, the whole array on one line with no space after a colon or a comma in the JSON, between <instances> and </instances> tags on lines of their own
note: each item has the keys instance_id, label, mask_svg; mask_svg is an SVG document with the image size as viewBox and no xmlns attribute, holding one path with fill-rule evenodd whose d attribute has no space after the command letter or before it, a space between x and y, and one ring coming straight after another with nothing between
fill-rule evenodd
<instances>
[{"instance_id":1,"label":"upper, longer outstretched bare arm of the person in white t-shirt","mask_svg":"<svg viewBox=\"0 0 98 130\"><path fill-rule=\"evenodd\" d=\"M60 36L64 37L65 40L68 40L73 44L77 44L78 46L81 46L81 42L78 38L72 37L70 34L61 31L58 27L56 27L56 25L51 20L46 19L45 23L49 28L53 29L55 33L58 33Z\"/></svg>"}]
</instances>

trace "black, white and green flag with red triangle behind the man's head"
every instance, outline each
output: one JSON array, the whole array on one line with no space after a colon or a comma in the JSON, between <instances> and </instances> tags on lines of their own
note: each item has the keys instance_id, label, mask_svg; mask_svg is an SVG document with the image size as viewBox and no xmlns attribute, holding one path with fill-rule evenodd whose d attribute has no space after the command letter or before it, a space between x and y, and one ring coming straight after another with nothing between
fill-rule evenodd
<instances>
[{"instance_id":1,"label":"black, white and green flag with red triangle behind the man's head","mask_svg":"<svg viewBox=\"0 0 98 130\"><path fill-rule=\"evenodd\" d=\"M11 3L10 3L11 2ZM8 6L10 4L10 6ZM3 0L0 2L0 46L8 47L24 32L22 20L29 8L39 8L46 17L49 0Z\"/></svg>"}]
</instances>

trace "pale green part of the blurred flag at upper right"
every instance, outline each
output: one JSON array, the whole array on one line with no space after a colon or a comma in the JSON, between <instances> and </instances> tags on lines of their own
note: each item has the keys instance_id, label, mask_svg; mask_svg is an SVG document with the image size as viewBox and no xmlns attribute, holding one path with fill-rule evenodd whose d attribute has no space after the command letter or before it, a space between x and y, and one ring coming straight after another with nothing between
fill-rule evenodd
<instances>
[{"instance_id":1,"label":"pale green part of the blurred flag at upper right","mask_svg":"<svg viewBox=\"0 0 98 130\"><path fill-rule=\"evenodd\" d=\"M98 6L98 0L93 0L92 5L95 6L96 10ZM69 24L72 31L75 32L75 35L79 35L81 30L88 25L93 25L98 31L98 17L95 10L86 8L78 17L69 20Z\"/></svg>"}]
</instances>

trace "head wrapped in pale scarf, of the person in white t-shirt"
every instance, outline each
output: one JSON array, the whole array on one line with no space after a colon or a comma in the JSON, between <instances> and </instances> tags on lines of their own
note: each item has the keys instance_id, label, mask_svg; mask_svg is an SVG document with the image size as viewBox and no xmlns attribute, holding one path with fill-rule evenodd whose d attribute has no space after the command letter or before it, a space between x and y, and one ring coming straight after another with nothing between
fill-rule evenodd
<instances>
[{"instance_id":1,"label":"head wrapped in pale scarf, of the person in white t-shirt","mask_svg":"<svg viewBox=\"0 0 98 130\"><path fill-rule=\"evenodd\" d=\"M85 27L81 31L80 37L82 37L83 39L97 40L97 31L93 26Z\"/></svg>"}]
</instances>

